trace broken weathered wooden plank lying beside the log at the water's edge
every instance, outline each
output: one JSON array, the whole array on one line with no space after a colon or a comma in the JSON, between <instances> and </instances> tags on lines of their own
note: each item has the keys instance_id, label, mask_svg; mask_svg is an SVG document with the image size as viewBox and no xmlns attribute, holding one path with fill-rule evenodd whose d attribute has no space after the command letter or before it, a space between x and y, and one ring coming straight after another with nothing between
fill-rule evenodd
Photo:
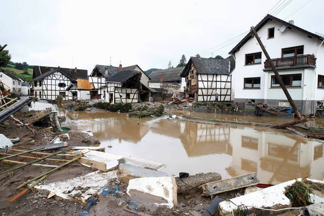
<instances>
[{"instance_id":1,"label":"broken weathered wooden plank lying beside the log at the water's edge","mask_svg":"<svg viewBox=\"0 0 324 216\"><path fill-rule=\"evenodd\" d=\"M216 182L210 182L199 187L206 194L214 195L226 191L245 188L259 183L256 173L249 173L229 179L224 179Z\"/></svg>"}]
</instances>

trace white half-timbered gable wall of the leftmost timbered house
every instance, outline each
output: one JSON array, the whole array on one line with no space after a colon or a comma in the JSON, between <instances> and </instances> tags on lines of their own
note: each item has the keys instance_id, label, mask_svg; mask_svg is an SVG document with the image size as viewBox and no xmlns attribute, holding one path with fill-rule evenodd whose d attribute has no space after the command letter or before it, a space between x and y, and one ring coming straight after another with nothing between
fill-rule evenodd
<instances>
[{"instance_id":1,"label":"white half-timbered gable wall of the leftmost timbered house","mask_svg":"<svg viewBox=\"0 0 324 216\"><path fill-rule=\"evenodd\" d=\"M39 86L40 81L41 86ZM69 91L66 91L66 88L71 84L71 80L61 72L55 71L40 81L37 81L37 86L34 85L34 95L37 94L37 98L40 98L41 93L41 98L55 100L60 92L64 92L66 97L63 97L63 100L72 100L72 97L68 97ZM59 87L58 83L65 83L65 86Z\"/></svg>"}]
</instances>

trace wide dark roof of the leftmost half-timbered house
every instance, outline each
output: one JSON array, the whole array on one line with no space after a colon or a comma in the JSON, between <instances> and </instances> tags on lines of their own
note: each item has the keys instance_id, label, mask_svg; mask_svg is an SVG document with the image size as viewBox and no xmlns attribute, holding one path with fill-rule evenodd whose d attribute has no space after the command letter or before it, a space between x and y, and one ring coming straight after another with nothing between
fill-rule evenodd
<instances>
[{"instance_id":1,"label":"wide dark roof of the leftmost half-timbered house","mask_svg":"<svg viewBox=\"0 0 324 216\"><path fill-rule=\"evenodd\" d=\"M77 72L75 72L77 70ZM54 71L59 71L71 80L76 81L78 78L87 79L88 71L83 69L61 68L61 67L47 67L47 66L34 66L32 78L33 80L41 80L46 76L52 74ZM47 74L46 76L43 76ZM42 77L40 77L42 76Z\"/></svg>"}]
</instances>

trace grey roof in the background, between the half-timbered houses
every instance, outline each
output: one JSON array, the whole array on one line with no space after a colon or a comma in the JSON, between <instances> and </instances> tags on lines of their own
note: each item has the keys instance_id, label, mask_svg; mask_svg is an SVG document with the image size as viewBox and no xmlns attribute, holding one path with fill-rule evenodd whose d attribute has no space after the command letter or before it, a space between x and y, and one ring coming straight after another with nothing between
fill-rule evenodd
<instances>
[{"instance_id":1,"label":"grey roof in the background, between the half-timbered houses","mask_svg":"<svg viewBox=\"0 0 324 216\"><path fill-rule=\"evenodd\" d=\"M176 67L176 68L170 68L165 70L158 70L158 71L152 71L150 74L151 81L150 82L160 82L160 76L163 76L163 82L170 82L170 81L180 81L180 74L185 69L185 66L183 67Z\"/></svg>"}]
</instances>

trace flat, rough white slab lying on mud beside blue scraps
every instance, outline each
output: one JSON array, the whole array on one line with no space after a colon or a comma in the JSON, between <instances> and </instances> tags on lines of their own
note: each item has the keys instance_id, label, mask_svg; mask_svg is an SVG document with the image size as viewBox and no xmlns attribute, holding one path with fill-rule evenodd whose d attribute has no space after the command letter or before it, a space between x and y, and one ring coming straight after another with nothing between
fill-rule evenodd
<instances>
[{"instance_id":1,"label":"flat, rough white slab lying on mud beside blue scraps","mask_svg":"<svg viewBox=\"0 0 324 216\"><path fill-rule=\"evenodd\" d=\"M85 202L85 200L87 200L93 193L99 191L113 178L117 178L116 170L109 172L95 171L84 176L67 179L64 181L49 184L45 182L43 184L36 185L34 188L49 190L50 193L55 193L56 199L68 199L70 201L80 200L81 202ZM77 187L81 187L82 190L73 189ZM73 190L70 193L65 193L65 191L68 191L69 189Z\"/></svg>"}]
</instances>

